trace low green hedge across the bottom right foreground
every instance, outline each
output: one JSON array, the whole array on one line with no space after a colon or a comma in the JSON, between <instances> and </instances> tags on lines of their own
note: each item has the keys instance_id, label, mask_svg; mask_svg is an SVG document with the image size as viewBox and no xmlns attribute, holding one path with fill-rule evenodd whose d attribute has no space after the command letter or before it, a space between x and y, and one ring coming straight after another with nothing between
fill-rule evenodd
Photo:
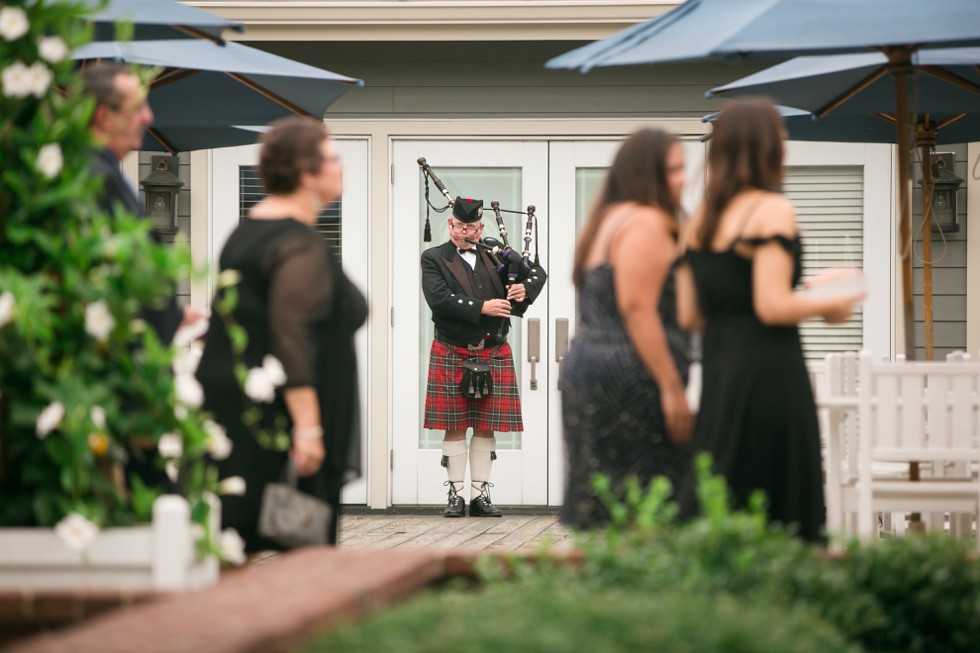
<instances>
[{"instance_id":1,"label":"low green hedge across the bottom right foreground","mask_svg":"<svg viewBox=\"0 0 980 653\"><path fill-rule=\"evenodd\" d=\"M596 488L614 522L579 536L581 565L486 558L477 590L411 601L310 650L980 650L972 541L909 536L829 555L767 525L759 499L729 511L724 483L706 471L704 516L685 524L662 479Z\"/></svg>"}]
</instances>

